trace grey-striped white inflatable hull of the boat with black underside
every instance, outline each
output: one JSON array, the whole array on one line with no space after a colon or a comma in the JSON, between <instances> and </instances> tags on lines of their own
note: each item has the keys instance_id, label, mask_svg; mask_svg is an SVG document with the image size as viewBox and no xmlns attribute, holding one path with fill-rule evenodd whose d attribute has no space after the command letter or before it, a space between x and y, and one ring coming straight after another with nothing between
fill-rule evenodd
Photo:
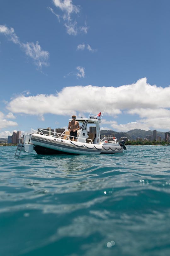
<instances>
[{"instance_id":1,"label":"grey-striped white inflatable hull of the boat with black underside","mask_svg":"<svg viewBox=\"0 0 170 256\"><path fill-rule=\"evenodd\" d=\"M78 155L99 155L122 153L123 149L116 145L100 145L92 143L81 143L65 139L56 139L52 136L32 134L31 143L37 154L78 154Z\"/></svg>"}]
</instances>

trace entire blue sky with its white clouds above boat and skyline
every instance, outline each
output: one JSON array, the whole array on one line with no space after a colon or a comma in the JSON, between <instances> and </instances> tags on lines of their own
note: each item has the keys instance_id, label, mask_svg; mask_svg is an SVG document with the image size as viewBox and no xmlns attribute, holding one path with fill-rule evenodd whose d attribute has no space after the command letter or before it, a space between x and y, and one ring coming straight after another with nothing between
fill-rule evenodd
<instances>
[{"instance_id":1,"label":"entire blue sky with its white clouds above boat and skyline","mask_svg":"<svg viewBox=\"0 0 170 256\"><path fill-rule=\"evenodd\" d=\"M67 128L170 130L170 1L0 3L0 137Z\"/></svg>"}]
</instances>

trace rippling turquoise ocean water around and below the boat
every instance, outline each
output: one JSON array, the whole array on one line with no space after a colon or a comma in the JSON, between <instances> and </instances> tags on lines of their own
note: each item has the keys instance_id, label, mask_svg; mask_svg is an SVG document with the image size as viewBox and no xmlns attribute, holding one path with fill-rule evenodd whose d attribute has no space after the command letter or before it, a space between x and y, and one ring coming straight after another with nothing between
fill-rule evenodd
<instances>
[{"instance_id":1,"label":"rippling turquoise ocean water around and below the boat","mask_svg":"<svg viewBox=\"0 0 170 256\"><path fill-rule=\"evenodd\" d=\"M169 256L170 147L37 155L0 147L1 256Z\"/></svg>"}]
</instances>

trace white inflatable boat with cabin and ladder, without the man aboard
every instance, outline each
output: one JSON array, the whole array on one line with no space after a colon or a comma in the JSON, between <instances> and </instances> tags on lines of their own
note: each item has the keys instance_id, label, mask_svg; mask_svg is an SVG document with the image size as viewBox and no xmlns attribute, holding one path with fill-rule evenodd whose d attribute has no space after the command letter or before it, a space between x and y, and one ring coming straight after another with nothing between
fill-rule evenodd
<instances>
[{"instance_id":1,"label":"white inflatable boat with cabin and ladder, without the man aboard","mask_svg":"<svg viewBox=\"0 0 170 256\"><path fill-rule=\"evenodd\" d=\"M72 119L70 119L72 120ZM126 149L125 142L117 142L116 137L104 137L100 140L101 119L97 116L89 118L77 118L80 129L77 131L76 141L70 140L69 131L65 130L62 134L47 130L32 129L31 134L22 134L17 146L15 155L19 151L31 152L35 150L37 154L114 154L122 153Z\"/></svg>"}]
</instances>

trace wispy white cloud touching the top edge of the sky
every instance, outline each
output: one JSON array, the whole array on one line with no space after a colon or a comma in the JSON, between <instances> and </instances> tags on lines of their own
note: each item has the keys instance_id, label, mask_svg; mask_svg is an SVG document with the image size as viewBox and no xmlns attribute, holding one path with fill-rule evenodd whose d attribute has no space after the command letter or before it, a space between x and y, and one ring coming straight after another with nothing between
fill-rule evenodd
<instances>
[{"instance_id":1,"label":"wispy white cloud touching the top edge of the sky","mask_svg":"<svg viewBox=\"0 0 170 256\"><path fill-rule=\"evenodd\" d=\"M72 16L77 15L80 12L80 6L74 5L72 3L72 0L53 0L53 3L55 7L59 8L62 11L64 26L66 27L66 31L69 35L76 35L78 31L87 34L88 27L86 26L86 23L84 26L78 27L77 21L72 20ZM48 9L50 9L51 12L54 13L56 16L59 16L54 12L52 8L48 7Z\"/></svg>"}]
</instances>

